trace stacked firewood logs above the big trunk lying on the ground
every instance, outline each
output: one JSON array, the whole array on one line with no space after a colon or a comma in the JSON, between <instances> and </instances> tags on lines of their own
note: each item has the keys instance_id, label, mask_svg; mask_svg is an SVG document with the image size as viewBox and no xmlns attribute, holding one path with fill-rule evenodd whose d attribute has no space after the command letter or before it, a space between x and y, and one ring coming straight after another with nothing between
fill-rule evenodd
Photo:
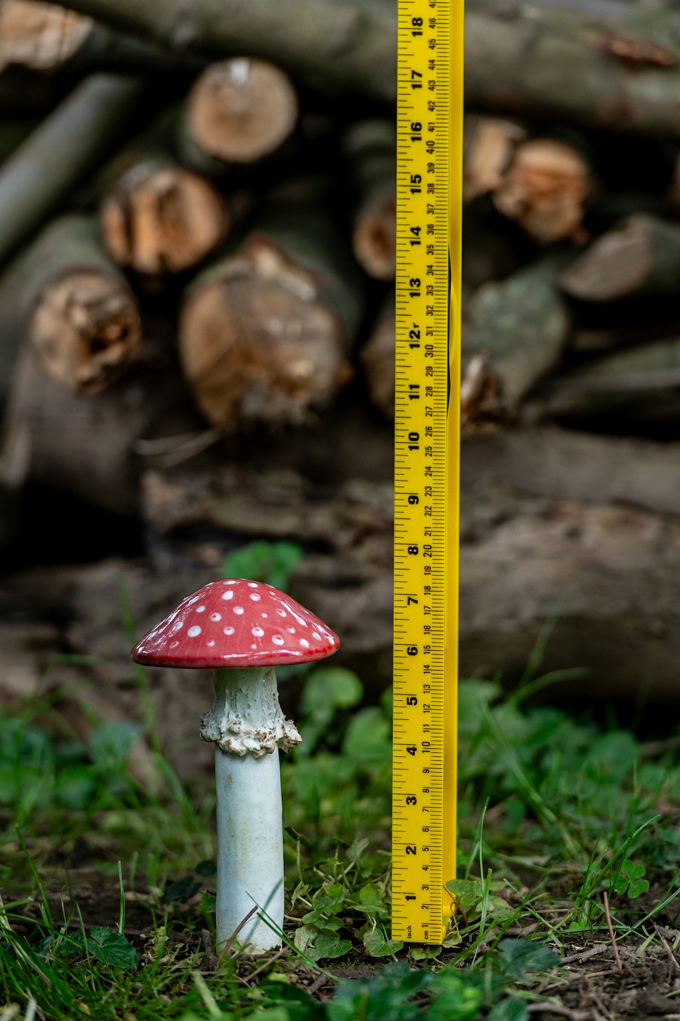
<instances>
[{"instance_id":1,"label":"stacked firewood logs above the big trunk lying on the ground","mask_svg":"<svg viewBox=\"0 0 680 1021\"><path fill-rule=\"evenodd\" d=\"M680 421L680 14L593 10L468 10L464 435ZM2 0L7 489L390 421L395 70L390 0Z\"/></svg>"}]
</instances>

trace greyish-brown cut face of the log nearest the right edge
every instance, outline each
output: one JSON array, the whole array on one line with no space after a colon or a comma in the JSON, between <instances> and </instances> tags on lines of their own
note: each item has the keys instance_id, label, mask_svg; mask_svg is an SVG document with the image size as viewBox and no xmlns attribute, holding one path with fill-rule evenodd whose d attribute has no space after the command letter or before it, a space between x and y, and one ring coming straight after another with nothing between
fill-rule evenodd
<instances>
[{"instance_id":1,"label":"greyish-brown cut face of the log nearest the right edge","mask_svg":"<svg viewBox=\"0 0 680 1021\"><path fill-rule=\"evenodd\" d=\"M643 288L652 266L649 217L639 214L598 238L561 275L563 289L582 301L616 301Z\"/></svg>"}]
</instances>

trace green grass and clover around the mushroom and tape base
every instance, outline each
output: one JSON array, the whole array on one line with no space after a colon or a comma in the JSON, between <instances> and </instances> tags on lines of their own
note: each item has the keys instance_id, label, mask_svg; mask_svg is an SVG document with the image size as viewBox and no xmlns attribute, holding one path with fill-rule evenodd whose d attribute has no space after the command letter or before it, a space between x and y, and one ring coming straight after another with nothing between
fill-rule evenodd
<instances>
[{"instance_id":1,"label":"green grass and clover around the mushroom and tape base","mask_svg":"<svg viewBox=\"0 0 680 1021\"><path fill-rule=\"evenodd\" d=\"M512 696L461 686L459 911L441 949L410 950L389 938L388 693L364 706L349 671L305 673L304 741L282 765L289 950L256 975L238 957L214 970L214 792L182 789L152 718L95 723L84 742L56 695L13 707L0 719L0 1021L519 1021L565 944L609 939L605 892L622 945L658 940L655 923L680 911L678 746L530 706L550 681L534 673ZM84 864L109 890L96 924L79 908ZM314 969L322 982L366 964L373 977L328 1002L301 987Z\"/></svg>"}]
</instances>

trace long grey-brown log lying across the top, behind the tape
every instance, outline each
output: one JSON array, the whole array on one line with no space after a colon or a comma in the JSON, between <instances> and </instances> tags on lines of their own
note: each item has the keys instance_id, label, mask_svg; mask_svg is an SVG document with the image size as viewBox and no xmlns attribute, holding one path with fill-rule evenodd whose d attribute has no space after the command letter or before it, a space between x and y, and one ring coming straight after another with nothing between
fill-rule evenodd
<instances>
[{"instance_id":1,"label":"long grey-brown log lying across the top, behind the tape","mask_svg":"<svg viewBox=\"0 0 680 1021\"><path fill-rule=\"evenodd\" d=\"M397 11L388 3L268 0L70 0L104 22L178 49L250 53L315 87L393 102ZM676 138L680 15L621 3L586 17L555 9L470 10L466 106L585 128ZM631 66L634 72L631 72Z\"/></svg>"}]
</instances>

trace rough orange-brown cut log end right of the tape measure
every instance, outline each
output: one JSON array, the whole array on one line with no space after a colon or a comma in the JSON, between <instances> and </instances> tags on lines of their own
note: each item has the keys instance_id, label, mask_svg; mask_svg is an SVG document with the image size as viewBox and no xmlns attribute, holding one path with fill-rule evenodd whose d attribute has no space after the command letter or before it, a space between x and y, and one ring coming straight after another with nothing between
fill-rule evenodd
<instances>
[{"instance_id":1,"label":"rough orange-brown cut log end right of the tape measure","mask_svg":"<svg viewBox=\"0 0 680 1021\"><path fill-rule=\"evenodd\" d=\"M587 163L571 146L531 139L517 146L493 202L540 244L580 240L589 179Z\"/></svg>"}]
</instances>

